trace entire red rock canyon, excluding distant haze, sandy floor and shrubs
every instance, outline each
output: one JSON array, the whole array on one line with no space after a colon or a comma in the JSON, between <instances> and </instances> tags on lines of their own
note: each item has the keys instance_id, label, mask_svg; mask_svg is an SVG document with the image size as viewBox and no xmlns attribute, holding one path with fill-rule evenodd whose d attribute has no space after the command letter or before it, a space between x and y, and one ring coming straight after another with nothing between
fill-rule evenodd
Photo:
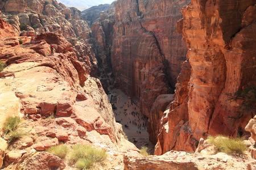
<instances>
[{"instance_id":1,"label":"entire red rock canyon, excluding distant haze, sandy floor and shrubs","mask_svg":"<svg viewBox=\"0 0 256 170\"><path fill-rule=\"evenodd\" d=\"M103 147L109 169L206 169L212 162L210 168L225 169L236 160L241 169L254 166L183 151L196 151L210 135L253 137L255 103L241 111L245 99L230 96L247 91L255 98L255 1L118 0L81 12L55 0L8 0L0 10L7 66L0 72L0 125L26 116L23 130L31 134L3 149L6 156L0 152L3 166L16 159L11 168L26 168L24 160L38 151L47 162L54 155L43 151L62 142ZM154 156L142 157L125 139L106 95L114 88L139 101Z\"/></svg>"}]
</instances>

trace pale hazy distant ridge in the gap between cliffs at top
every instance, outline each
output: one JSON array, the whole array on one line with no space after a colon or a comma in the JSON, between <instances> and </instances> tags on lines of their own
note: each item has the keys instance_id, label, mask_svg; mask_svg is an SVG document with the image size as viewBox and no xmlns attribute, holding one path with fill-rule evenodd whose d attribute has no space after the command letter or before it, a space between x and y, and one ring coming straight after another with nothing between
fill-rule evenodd
<instances>
[{"instance_id":1,"label":"pale hazy distant ridge in the gap between cliffs at top","mask_svg":"<svg viewBox=\"0 0 256 170\"><path fill-rule=\"evenodd\" d=\"M89 8L92 6L97 6L100 4L106 4L109 3L111 4L114 0L57 0L59 3L63 3L64 5L67 6L74 6L74 7L84 7L84 8Z\"/></svg>"}]
</instances>

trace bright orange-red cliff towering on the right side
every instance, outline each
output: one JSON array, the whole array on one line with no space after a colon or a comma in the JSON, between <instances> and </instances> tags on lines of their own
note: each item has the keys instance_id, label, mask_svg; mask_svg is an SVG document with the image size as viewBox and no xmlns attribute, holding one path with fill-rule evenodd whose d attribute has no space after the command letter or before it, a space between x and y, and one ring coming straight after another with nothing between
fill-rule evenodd
<instances>
[{"instance_id":1,"label":"bright orange-red cliff towering on the right side","mask_svg":"<svg viewBox=\"0 0 256 170\"><path fill-rule=\"evenodd\" d=\"M171 149L193 151L206 135L235 136L252 116L238 117L241 101L230 103L226 93L255 86L255 2L192 1L181 12L184 19L177 28L188 46L192 72L188 82L189 72L184 71L188 90L177 83L176 101L155 154ZM186 76L182 74L180 78ZM183 116L176 114L178 109Z\"/></svg>"}]
</instances>

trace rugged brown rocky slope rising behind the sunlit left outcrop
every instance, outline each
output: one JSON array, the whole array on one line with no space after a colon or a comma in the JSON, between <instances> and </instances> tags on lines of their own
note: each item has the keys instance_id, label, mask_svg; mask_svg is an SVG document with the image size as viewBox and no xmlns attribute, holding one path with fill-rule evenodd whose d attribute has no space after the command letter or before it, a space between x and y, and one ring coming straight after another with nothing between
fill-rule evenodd
<instances>
[{"instance_id":1,"label":"rugged brown rocky slope rising behind the sunlit left outcrop","mask_svg":"<svg viewBox=\"0 0 256 170\"><path fill-rule=\"evenodd\" d=\"M97 75L97 60L90 44L90 28L82 20L79 10L67 8L55 0L2 1L0 10L3 12L1 17L14 26L16 35L34 37L40 33L56 32L71 39L79 60L90 67L89 74Z\"/></svg>"}]
</instances>

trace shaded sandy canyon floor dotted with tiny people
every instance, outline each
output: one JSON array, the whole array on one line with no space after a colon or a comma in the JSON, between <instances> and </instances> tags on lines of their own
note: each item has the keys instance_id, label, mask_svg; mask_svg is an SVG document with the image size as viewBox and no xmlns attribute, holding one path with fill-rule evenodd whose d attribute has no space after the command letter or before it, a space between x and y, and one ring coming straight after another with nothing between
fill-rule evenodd
<instances>
[{"instance_id":1,"label":"shaded sandy canyon floor dotted with tiny people","mask_svg":"<svg viewBox=\"0 0 256 170\"><path fill-rule=\"evenodd\" d=\"M110 94L113 95L112 103L117 108L113 109L115 120L120 121L129 141L138 148L148 146L147 117L141 113L138 99L131 99L117 89L110 91Z\"/></svg>"}]
</instances>

